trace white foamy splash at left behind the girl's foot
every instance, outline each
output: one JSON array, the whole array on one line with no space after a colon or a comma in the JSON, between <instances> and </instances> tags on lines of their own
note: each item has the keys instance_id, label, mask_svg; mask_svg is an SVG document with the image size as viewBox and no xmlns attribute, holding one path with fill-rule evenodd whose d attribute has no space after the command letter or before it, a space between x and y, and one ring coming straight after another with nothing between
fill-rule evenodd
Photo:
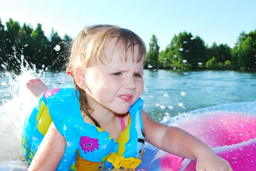
<instances>
[{"instance_id":1,"label":"white foamy splash at left behind the girl's foot","mask_svg":"<svg viewBox=\"0 0 256 171\"><path fill-rule=\"evenodd\" d=\"M10 96L2 100L0 106L0 161L3 160L23 160L21 152L21 130L26 114L32 106L35 97L26 88L26 82L31 78L43 78L44 72L31 69L21 56L21 65L17 66L21 71L20 74L14 72L5 72L2 81L1 94ZM26 66L22 64L25 63ZM7 64L4 64L8 68ZM3 64L2 64L3 67ZM3 84L4 83L4 84Z\"/></svg>"}]
</instances>

